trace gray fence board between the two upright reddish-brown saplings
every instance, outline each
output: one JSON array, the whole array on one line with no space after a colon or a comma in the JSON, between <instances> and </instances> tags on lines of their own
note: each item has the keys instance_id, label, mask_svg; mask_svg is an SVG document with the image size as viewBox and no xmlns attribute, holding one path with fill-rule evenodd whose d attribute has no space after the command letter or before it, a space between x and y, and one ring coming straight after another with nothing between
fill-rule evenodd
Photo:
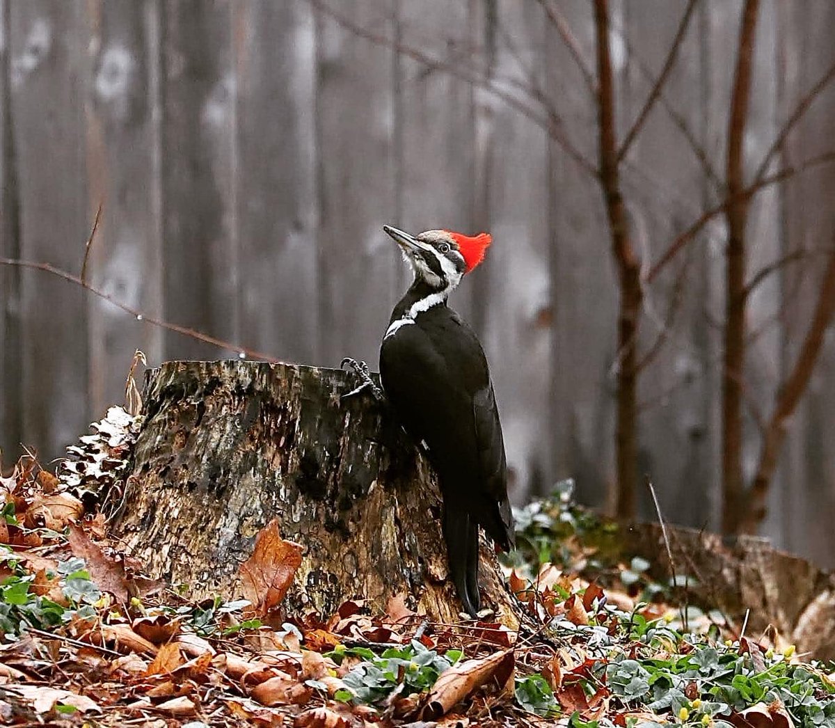
<instances>
[{"instance_id":1,"label":"gray fence board between the two upright reddish-brown saplings","mask_svg":"<svg viewBox=\"0 0 835 728\"><path fill-rule=\"evenodd\" d=\"M685 2L663 0L627 8L632 99L621 139L649 98L685 8ZM703 30L696 12L661 89L663 98L646 117L625 159L633 241L644 265L657 260L719 194L716 185L706 181L697 152L686 140L690 134L696 144L706 141ZM660 149L665 153L659 154ZM719 160L711 159L711 166L721 174ZM668 517L697 528L710 519L706 488L718 473L719 441L711 427L711 409L705 406L719 395L718 379L711 376L717 367L716 351L710 346L704 313L709 276L705 240L695 240L658 281L645 288L641 319L641 357L658 341L663 344L640 372L640 473L652 478ZM655 517L645 489L640 493L640 515Z\"/></svg>"}]
</instances>

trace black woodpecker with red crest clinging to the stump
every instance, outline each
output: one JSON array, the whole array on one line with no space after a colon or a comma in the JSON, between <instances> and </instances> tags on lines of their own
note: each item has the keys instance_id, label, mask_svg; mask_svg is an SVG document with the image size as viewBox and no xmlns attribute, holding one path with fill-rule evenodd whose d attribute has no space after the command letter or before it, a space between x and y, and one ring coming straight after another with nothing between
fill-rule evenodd
<instances>
[{"instance_id":1,"label":"black woodpecker with red crest clinging to the stump","mask_svg":"<svg viewBox=\"0 0 835 728\"><path fill-rule=\"evenodd\" d=\"M448 230L409 235L388 225L383 230L400 246L414 281L382 337L382 387L438 473L450 575L464 609L475 616L481 604L478 526L507 551L514 546L514 521L487 359L473 330L447 306L447 296L483 260L491 238Z\"/></svg>"}]
</instances>

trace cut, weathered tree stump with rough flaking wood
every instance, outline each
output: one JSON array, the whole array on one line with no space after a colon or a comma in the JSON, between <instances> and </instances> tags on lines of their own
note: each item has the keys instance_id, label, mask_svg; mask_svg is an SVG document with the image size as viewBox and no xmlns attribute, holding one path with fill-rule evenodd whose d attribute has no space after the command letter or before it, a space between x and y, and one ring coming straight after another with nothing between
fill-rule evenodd
<instances>
[{"instance_id":1,"label":"cut, weathered tree stump with rough flaking wood","mask_svg":"<svg viewBox=\"0 0 835 728\"><path fill-rule=\"evenodd\" d=\"M114 532L154 578L195 599L238 594L240 564L274 518L304 548L291 612L397 594L459 619L428 462L385 403L341 400L347 372L253 361L170 361L148 372L144 423ZM483 603L516 624L482 542Z\"/></svg>"}]
</instances>

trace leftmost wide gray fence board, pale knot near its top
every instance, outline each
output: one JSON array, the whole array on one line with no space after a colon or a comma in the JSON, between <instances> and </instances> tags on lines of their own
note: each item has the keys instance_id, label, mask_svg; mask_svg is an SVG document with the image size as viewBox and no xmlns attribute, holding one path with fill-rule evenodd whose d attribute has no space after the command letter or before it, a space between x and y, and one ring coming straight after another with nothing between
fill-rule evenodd
<instances>
[{"instance_id":1,"label":"leftmost wide gray fence board, pale knot near its top","mask_svg":"<svg viewBox=\"0 0 835 728\"><path fill-rule=\"evenodd\" d=\"M75 272L89 226L80 10L11 3L8 26L20 252ZM53 458L88 422L86 301L80 289L38 271L23 271L21 284L23 439Z\"/></svg>"}]
</instances>

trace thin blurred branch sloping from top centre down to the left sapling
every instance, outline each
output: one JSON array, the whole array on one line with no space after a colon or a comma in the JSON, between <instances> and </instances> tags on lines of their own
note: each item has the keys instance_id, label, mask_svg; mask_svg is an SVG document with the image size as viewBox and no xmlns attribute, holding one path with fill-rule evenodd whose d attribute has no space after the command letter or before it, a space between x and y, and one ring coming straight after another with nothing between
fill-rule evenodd
<instances>
[{"instance_id":1,"label":"thin blurred branch sloping from top centre down to the left sapling","mask_svg":"<svg viewBox=\"0 0 835 728\"><path fill-rule=\"evenodd\" d=\"M544 129L545 132L549 134L549 136L554 139L557 144L559 144L563 151L568 154L571 159L574 159L580 169L583 169L584 172L590 174L592 177L597 176L597 169L595 168L595 165L586 159L582 152L580 152L568 138L568 135L565 132L564 121L562 117L559 116L556 109L545 108L546 113L544 115L539 114L536 109L532 109L521 99L518 99L513 94L509 94L504 90L504 88L501 88L494 83L493 78L489 78L481 73L470 71L465 68L459 68L454 63L448 63L447 61L433 58L419 48L412 48L412 46L408 46L404 43L397 43L395 39L388 38L387 35L383 33L375 33L368 28L363 28L361 25L354 23L350 18L347 18L342 13L339 13L331 8L327 3L322 2L322 0L307 0L307 2L311 3L313 8L316 8L328 18L334 20L342 28L345 28L356 35L357 38L363 38L369 43L374 43L375 45L392 48L392 50L397 53L402 53L402 55L407 58L412 58L412 60L417 61L417 63L423 63L423 65L427 68L433 68L435 70L443 71L444 73L449 73L455 78L461 78L463 81L471 83L477 88L483 88L489 94L492 94L497 99L501 99L505 104L508 104L509 108L518 111L525 119L529 119L534 122L534 124L537 124L539 127ZM536 97L535 94L531 94L530 88L525 87L524 84L521 83L519 83L518 88L525 94L534 95L534 100L537 101L539 105L543 105L543 99L541 97Z\"/></svg>"}]
</instances>

